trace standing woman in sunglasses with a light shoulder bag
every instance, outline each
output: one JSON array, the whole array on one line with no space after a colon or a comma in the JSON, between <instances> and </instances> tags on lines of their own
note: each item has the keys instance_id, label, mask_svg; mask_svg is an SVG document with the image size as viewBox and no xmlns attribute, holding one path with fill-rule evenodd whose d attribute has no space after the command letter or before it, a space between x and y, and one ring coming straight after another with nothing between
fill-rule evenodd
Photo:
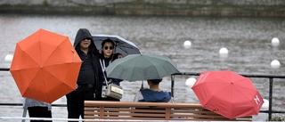
<instances>
[{"instance_id":1,"label":"standing woman in sunglasses with a light shoulder bag","mask_svg":"<svg viewBox=\"0 0 285 122\"><path fill-rule=\"evenodd\" d=\"M119 85L119 83L122 81L121 79L116 78L108 78L106 73L106 68L110 65L111 61L113 59L117 59L118 57L114 57L114 42L110 39L105 39L102 41L102 55L100 58L100 64L101 67L99 68L100 71L100 83L99 83L99 89L97 90L97 94L95 99L97 101L119 101L118 99L112 98L107 96L104 92L107 90L106 84L116 84ZM106 77L106 79L105 79ZM107 83L106 83L107 82Z\"/></svg>"}]
</instances>

